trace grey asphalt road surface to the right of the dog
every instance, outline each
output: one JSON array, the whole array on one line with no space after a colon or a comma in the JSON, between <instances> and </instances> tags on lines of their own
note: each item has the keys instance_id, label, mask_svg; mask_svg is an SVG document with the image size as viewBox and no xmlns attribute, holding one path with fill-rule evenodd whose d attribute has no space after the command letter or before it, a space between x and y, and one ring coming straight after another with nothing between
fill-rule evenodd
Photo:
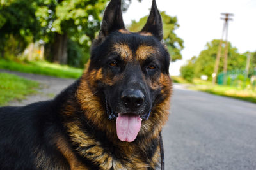
<instances>
[{"instance_id":1,"label":"grey asphalt road surface to the right of the dog","mask_svg":"<svg viewBox=\"0 0 256 170\"><path fill-rule=\"evenodd\" d=\"M256 104L174 87L166 170L255 170Z\"/></svg>"}]
</instances>

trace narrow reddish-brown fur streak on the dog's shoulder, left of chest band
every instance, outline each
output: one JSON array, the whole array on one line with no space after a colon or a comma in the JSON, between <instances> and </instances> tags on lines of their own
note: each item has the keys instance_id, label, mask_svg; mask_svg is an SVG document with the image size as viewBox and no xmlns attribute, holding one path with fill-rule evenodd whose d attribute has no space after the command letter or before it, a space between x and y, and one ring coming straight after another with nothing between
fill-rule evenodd
<instances>
[{"instance_id":1,"label":"narrow reddish-brown fur streak on the dog's shoulder, left of chest band","mask_svg":"<svg viewBox=\"0 0 256 170\"><path fill-rule=\"evenodd\" d=\"M56 139L56 146L58 150L60 150L62 155L67 159L71 170L88 169L88 167L86 167L84 164L79 162L79 160L77 160L76 155L72 152L72 149L70 148L70 146L68 146L67 141L63 137L58 137Z\"/></svg>"}]
</instances>

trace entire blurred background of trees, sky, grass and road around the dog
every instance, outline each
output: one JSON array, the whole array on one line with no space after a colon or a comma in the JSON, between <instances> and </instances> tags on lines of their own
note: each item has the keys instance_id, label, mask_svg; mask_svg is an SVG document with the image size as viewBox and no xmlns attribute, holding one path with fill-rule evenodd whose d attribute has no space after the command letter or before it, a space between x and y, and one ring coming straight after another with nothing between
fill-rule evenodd
<instances>
[{"instance_id":1,"label":"entire blurred background of trees, sky, grass and road around the dog","mask_svg":"<svg viewBox=\"0 0 256 170\"><path fill-rule=\"evenodd\" d=\"M108 2L0 0L0 106L52 99L74 83ZM151 3L123 0L127 29L140 31ZM256 1L157 6L172 57L166 169L256 169Z\"/></svg>"}]
</instances>

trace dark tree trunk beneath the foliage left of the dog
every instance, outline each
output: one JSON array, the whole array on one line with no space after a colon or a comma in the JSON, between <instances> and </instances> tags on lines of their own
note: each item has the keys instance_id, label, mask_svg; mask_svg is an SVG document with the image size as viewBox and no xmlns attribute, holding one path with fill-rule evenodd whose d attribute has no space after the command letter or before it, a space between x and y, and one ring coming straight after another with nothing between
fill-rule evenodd
<instances>
[{"instance_id":1,"label":"dark tree trunk beneath the foliage left of the dog","mask_svg":"<svg viewBox=\"0 0 256 170\"><path fill-rule=\"evenodd\" d=\"M53 61L59 64L67 64L67 34L56 33L54 48L53 48Z\"/></svg>"}]
</instances>

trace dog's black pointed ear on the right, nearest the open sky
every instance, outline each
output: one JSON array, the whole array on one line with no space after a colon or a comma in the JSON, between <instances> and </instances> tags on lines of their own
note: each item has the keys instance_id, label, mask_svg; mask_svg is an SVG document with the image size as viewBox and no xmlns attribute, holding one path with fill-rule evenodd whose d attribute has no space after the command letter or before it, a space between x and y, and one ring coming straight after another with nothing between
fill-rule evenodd
<instances>
[{"instance_id":1,"label":"dog's black pointed ear on the right, nearest the open sky","mask_svg":"<svg viewBox=\"0 0 256 170\"><path fill-rule=\"evenodd\" d=\"M156 0L153 0L147 23L140 32L149 32L160 41L163 39L163 23L161 15L157 10Z\"/></svg>"}]
</instances>

